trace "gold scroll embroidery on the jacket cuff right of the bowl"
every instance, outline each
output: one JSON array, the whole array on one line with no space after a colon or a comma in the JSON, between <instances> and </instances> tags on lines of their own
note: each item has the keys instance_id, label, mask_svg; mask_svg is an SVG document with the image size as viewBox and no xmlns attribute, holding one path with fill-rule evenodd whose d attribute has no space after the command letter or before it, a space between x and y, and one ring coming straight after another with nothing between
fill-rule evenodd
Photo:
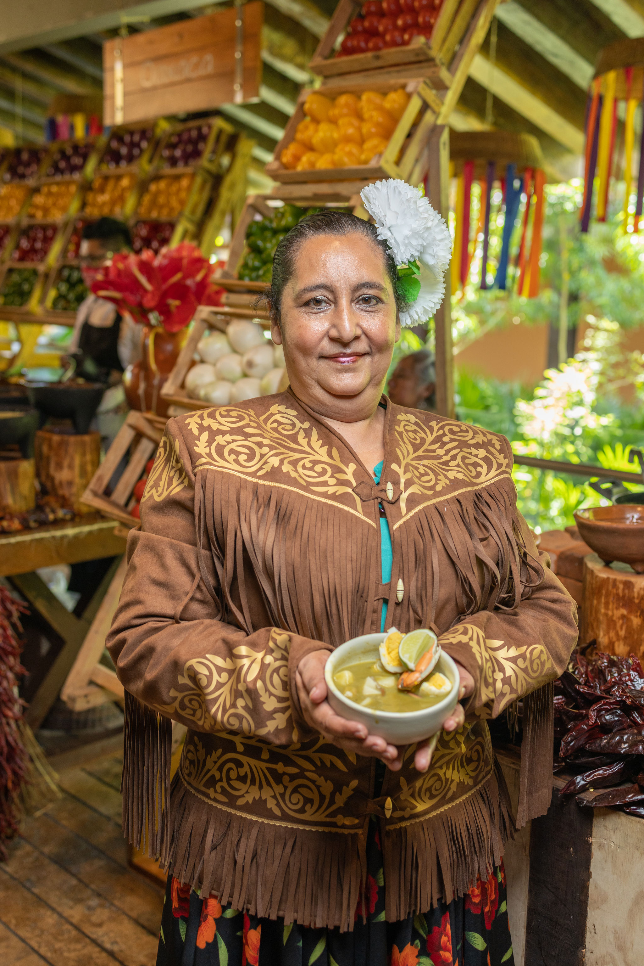
<instances>
[{"instance_id":1,"label":"gold scroll embroidery on the jacket cuff right of the bowl","mask_svg":"<svg viewBox=\"0 0 644 966\"><path fill-rule=\"evenodd\" d=\"M440 636L441 646L467 644L479 668L481 683L476 695L477 714L496 717L514 700L534 690L535 681L556 677L556 668L542 643L526 647L486 638L475 624L457 624Z\"/></svg>"}]
</instances>

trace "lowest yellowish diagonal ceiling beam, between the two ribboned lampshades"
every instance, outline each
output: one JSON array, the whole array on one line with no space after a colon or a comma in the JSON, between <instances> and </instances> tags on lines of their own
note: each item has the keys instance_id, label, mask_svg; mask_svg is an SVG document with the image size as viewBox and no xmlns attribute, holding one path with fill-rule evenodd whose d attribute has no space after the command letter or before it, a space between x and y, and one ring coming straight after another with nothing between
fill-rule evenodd
<instances>
[{"instance_id":1,"label":"lowest yellowish diagonal ceiling beam, between the two ribboned lampshades","mask_svg":"<svg viewBox=\"0 0 644 966\"><path fill-rule=\"evenodd\" d=\"M486 90L491 91L495 98L514 107L532 124L545 130L550 137L563 144L575 155L583 152L583 131L575 128L543 100L527 91L506 71L502 71L498 66L492 68L490 61L482 54L474 57L469 76Z\"/></svg>"}]
</instances>

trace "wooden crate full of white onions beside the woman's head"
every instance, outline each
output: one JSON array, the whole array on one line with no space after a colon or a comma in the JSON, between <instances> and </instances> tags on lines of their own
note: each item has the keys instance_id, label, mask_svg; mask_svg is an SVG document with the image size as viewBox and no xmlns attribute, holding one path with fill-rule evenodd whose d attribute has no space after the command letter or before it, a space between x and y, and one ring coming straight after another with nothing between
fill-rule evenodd
<instances>
[{"instance_id":1,"label":"wooden crate full of white onions beside the woman's head","mask_svg":"<svg viewBox=\"0 0 644 966\"><path fill-rule=\"evenodd\" d=\"M184 410L199 410L280 391L286 387L284 354L267 334L251 319L200 307L161 396Z\"/></svg>"}]
</instances>

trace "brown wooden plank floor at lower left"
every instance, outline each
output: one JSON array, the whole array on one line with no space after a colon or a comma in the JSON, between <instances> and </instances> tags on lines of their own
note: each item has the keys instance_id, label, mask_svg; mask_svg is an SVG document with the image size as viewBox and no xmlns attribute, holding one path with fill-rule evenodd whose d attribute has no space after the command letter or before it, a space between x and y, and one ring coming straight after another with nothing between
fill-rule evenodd
<instances>
[{"instance_id":1,"label":"brown wooden plank floor at lower left","mask_svg":"<svg viewBox=\"0 0 644 966\"><path fill-rule=\"evenodd\" d=\"M154 966L163 890L127 865L122 755L59 771L65 797L0 864L2 966Z\"/></svg>"}]
</instances>

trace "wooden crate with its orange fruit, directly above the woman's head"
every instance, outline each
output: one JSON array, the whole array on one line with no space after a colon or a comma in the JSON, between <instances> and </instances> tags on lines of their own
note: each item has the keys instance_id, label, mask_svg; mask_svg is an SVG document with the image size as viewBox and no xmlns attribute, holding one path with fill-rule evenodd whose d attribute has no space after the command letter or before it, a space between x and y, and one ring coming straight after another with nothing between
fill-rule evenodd
<instances>
[{"instance_id":1,"label":"wooden crate with its orange fruit, directly above the woman's head","mask_svg":"<svg viewBox=\"0 0 644 966\"><path fill-rule=\"evenodd\" d=\"M422 78L302 91L266 174L283 184L419 181L425 174L419 162L441 108Z\"/></svg>"}]
</instances>

